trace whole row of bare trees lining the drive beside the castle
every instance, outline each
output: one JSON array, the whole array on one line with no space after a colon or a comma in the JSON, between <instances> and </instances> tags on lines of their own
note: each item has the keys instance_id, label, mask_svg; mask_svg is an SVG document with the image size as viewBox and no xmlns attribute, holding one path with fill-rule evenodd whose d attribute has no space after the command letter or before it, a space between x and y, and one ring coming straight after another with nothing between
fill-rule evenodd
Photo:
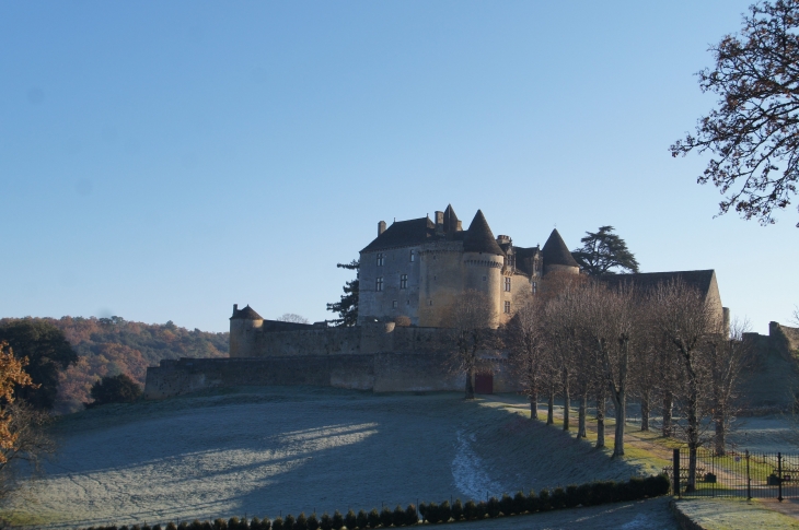
<instances>
[{"instance_id":1,"label":"whole row of bare trees lining the drive beside the castle","mask_svg":"<svg viewBox=\"0 0 799 530\"><path fill-rule=\"evenodd\" d=\"M624 455L627 403L640 403L641 429L662 417L663 436L684 439L690 449L690 484L695 482L697 448L715 441L725 454L733 417L732 400L749 358L743 326L726 322L720 307L680 280L642 288L584 275L549 279L539 296L518 308L499 330L487 331L494 315L478 293L466 293L450 320L459 369L472 379L506 351L524 382L532 419L547 401L564 400L563 428L571 427L570 404L578 403L577 436L587 437L587 416L597 412L597 447L605 445L605 409L613 405L613 456ZM679 419L675 420L675 419Z\"/></svg>"}]
</instances>

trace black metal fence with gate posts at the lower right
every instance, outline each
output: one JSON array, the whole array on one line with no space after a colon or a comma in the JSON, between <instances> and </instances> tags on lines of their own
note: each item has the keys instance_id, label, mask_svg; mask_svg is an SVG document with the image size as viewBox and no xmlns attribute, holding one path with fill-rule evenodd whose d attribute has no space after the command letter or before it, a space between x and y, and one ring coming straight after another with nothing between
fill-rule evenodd
<instances>
[{"instance_id":1,"label":"black metal fence with gate posts at the lower right","mask_svg":"<svg viewBox=\"0 0 799 530\"><path fill-rule=\"evenodd\" d=\"M719 456L698 449L695 460L692 467L690 451L674 449L672 464L663 468L675 495L799 497L799 455L727 451Z\"/></svg>"}]
</instances>

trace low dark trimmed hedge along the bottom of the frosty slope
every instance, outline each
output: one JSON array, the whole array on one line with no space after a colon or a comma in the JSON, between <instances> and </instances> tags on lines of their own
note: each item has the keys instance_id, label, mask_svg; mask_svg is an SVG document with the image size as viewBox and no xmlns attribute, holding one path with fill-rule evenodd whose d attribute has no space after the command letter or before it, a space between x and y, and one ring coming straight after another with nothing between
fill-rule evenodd
<instances>
[{"instance_id":1,"label":"low dark trimmed hedge along the bottom of the frosty slope","mask_svg":"<svg viewBox=\"0 0 799 530\"><path fill-rule=\"evenodd\" d=\"M449 500L437 503L421 503L418 514L421 521L429 523L473 521L494 517L509 517L522 514L535 514L552 509L575 508L577 506L595 506L607 503L638 500L647 497L658 497L669 493L669 478L664 474L648 476L646 479L633 478L627 482L591 482L581 485L568 485L566 488L556 487L552 492L541 490L536 495L532 490L526 495L524 492L517 492L514 496L503 494L501 498L490 497L488 502L475 503L468 500L462 504L456 499L452 505ZM274 521L268 518L258 519L253 517L250 521L246 518L239 519L231 517L229 520L215 519L213 522L200 522L195 519L189 522L175 525L170 522L166 527L148 525L131 527L116 525L106 527L89 527L84 530L366 530L372 528L409 527L418 525L416 506L408 505L403 509L397 505L393 510L383 507L381 511L373 508L368 514L359 510L358 515L351 509L343 516L336 510L333 516L327 513L317 517L316 514L305 516L304 513L294 518L291 514L286 518L276 517Z\"/></svg>"}]
</instances>

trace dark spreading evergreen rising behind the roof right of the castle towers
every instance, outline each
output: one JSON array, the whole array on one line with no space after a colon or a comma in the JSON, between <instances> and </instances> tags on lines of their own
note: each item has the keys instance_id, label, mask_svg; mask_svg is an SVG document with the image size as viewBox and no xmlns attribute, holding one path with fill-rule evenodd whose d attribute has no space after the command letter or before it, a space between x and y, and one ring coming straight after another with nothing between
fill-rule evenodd
<instances>
[{"instance_id":1,"label":"dark spreading evergreen rising behind the roof right of the castle towers","mask_svg":"<svg viewBox=\"0 0 799 530\"><path fill-rule=\"evenodd\" d=\"M580 263L583 272L592 276L617 272L611 269L638 272L635 255L613 231L613 226L600 226L598 232L586 232L586 237L580 239L582 247L574 250L571 256Z\"/></svg>"}]
</instances>

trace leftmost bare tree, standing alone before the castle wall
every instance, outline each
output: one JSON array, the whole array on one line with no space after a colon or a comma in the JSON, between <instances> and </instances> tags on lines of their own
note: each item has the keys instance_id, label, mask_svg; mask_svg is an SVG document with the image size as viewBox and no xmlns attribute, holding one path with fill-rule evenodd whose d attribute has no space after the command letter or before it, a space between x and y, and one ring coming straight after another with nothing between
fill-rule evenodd
<instances>
[{"instance_id":1,"label":"leftmost bare tree, standing alone before the castle wall","mask_svg":"<svg viewBox=\"0 0 799 530\"><path fill-rule=\"evenodd\" d=\"M466 376L466 399L474 399L474 376L485 366L483 355L496 355L497 333L491 329L497 314L488 296L466 290L444 317L450 329L448 348L452 368Z\"/></svg>"}]
</instances>

